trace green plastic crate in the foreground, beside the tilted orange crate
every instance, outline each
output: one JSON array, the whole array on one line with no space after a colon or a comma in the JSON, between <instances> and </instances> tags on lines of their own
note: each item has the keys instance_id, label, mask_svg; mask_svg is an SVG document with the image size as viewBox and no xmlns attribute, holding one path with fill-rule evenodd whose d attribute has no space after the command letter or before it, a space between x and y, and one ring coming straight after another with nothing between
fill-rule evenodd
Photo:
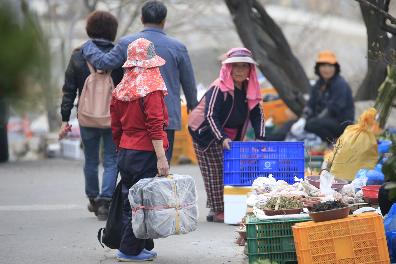
<instances>
[{"instance_id":1,"label":"green plastic crate in the foreground, beside the tilted orange crate","mask_svg":"<svg viewBox=\"0 0 396 264\"><path fill-rule=\"evenodd\" d=\"M268 259L278 264L297 264L292 226L311 218L259 220L246 218L247 256L249 263Z\"/></svg>"}]
</instances>

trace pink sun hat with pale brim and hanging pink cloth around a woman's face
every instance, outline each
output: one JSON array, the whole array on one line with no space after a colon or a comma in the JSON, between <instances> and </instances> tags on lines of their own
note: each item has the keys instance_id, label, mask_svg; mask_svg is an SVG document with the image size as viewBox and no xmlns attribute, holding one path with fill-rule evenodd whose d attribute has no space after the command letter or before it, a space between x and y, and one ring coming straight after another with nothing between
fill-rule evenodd
<instances>
[{"instance_id":1,"label":"pink sun hat with pale brim and hanging pink cloth around a woman's face","mask_svg":"<svg viewBox=\"0 0 396 264\"><path fill-rule=\"evenodd\" d=\"M233 48L226 54L227 59L223 61L223 67L220 71L219 87L222 92L234 90L234 80L231 76L232 63L247 62L250 63L250 73L247 78L248 84L246 89L246 98L249 109L253 109L260 101L261 88L256 73L255 65L258 65L252 57L251 52L246 48Z\"/></svg>"}]
</instances>

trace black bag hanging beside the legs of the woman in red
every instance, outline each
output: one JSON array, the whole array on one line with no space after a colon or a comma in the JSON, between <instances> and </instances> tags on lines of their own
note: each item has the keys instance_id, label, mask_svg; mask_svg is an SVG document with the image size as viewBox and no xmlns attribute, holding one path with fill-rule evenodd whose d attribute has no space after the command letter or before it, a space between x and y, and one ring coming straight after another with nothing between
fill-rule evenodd
<instances>
[{"instance_id":1,"label":"black bag hanging beside the legs of the woman in red","mask_svg":"<svg viewBox=\"0 0 396 264\"><path fill-rule=\"evenodd\" d=\"M118 178L118 171L116 176L116 183ZM99 229L98 240L102 245L106 245L110 249L119 249L122 239L122 228L124 223L122 222L122 208L124 207L124 200L122 199L122 183L118 182L117 187L114 189L113 197L111 198L111 203L109 207L109 216L107 218L106 227ZM100 235L102 233L102 241ZM103 242L103 244L102 244ZM148 251L154 249L154 240L149 238L146 239L145 249Z\"/></svg>"}]
</instances>

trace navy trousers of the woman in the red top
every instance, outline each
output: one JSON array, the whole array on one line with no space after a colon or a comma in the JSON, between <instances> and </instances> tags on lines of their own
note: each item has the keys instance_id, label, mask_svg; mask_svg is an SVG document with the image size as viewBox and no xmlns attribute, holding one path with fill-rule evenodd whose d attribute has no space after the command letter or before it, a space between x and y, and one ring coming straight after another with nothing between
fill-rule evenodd
<instances>
[{"instance_id":1,"label":"navy trousers of the woman in the red top","mask_svg":"<svg viewBox=\"0 0 396 264\"><path fill-rule=\"evenodd\" d=\"M165 151L168 159L168 150ZM155 151L118 149L117 167L120 171L122 182L122 199L124 199L124 209L122 219L122 240L120 252L128 255L139 255L145 247L145 239L135 237L132 229L132 209L128 200L129 189L139 180L154 177L158 174L157 156ZM168 159L169 163L169 159Z\"/></svg>"}]
</instances>

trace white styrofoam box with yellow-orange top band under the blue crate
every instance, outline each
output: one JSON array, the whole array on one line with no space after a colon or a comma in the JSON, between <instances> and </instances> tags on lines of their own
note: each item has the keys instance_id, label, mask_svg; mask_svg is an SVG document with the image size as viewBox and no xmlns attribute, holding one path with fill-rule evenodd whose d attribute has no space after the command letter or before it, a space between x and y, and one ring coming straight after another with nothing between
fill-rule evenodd
<instances>
[{"instance_id":1,"label":"white styrofoam box with yellow-orange top band under the blue crate","mask_svg":"<svg viewBox=\"0 0 396 264\"><path fill-rule=\"evenodd\" d=\"M251 186L224 186L224 222L238 224L246 214L247 193Z\"/></svg>"}]
</instances>

